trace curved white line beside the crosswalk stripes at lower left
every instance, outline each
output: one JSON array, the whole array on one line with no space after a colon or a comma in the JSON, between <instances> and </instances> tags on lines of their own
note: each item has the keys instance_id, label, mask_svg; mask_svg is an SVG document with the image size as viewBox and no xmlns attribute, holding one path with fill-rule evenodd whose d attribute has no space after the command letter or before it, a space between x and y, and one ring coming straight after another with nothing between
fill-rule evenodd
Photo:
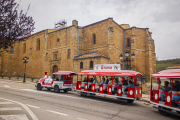
<instances>
[{"instance_id":1,"label":"curved white line beside the crosswalk stripes at lower left","mask_svg":"<svg viewBox=\"0 0 180 120\"><path fill-rule=\"evenodd\" d=\"M17 103L17 104L23 106L24 109L29 113L29 115L31 116L31 118L32 118L33 120L39 120L39 119L35 116L35 114L34 114L26 105L24 105L23 103L20 103L20 102L17 102L17 101L13 101L13 100L9 100L9 99L5 99L5 98L2 98L2 97L0 97L0 99L7 100L7 101L11 101L11 102L14 102L14 103Z\"/></svg>"}]
</instances>

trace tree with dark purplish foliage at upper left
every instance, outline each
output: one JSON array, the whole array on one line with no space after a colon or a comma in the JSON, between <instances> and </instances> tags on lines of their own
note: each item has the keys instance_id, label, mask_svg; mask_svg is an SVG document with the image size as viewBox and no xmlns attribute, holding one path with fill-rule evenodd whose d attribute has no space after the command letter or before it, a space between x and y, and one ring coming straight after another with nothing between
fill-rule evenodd
<instances>
[{"instance_id":1,"label":"tree with dark purplish foliage at upper left","mask_svg":"<svg viewBox=\"0 0 180 120\"><path fill-rule=\"evenodd\" d=\"M30 6L29 6L30 7ZM0 0L0 54L12 47L15 41L23 40L33 32L34 24L32 17L27 12L19 11L19 4L15 0Z\"/></svg>"}]
</instances>

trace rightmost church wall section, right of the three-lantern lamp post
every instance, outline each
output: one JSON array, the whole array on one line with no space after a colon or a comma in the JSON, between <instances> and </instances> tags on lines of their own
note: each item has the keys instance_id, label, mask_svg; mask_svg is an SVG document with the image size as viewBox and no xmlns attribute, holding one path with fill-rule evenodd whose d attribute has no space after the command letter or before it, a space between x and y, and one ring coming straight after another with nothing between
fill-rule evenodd
<instances>
[{"instance_id":1,"label":"rightmost church wall section, right of the three-lantern lamp post","mask_svg":"<svg viewBox=\"0 0 180 120\"><path fill-rule=\"evenodd\" d=\"M130 39L130 47L127 47L127 39ZM150 75L156 72L154 40L148 28L132 27L125 30L125 50L135 54L131 62L131 69L139 71L150 80ZM129 56L130 59L131 56Z\"/></svg>"}]
</instances>

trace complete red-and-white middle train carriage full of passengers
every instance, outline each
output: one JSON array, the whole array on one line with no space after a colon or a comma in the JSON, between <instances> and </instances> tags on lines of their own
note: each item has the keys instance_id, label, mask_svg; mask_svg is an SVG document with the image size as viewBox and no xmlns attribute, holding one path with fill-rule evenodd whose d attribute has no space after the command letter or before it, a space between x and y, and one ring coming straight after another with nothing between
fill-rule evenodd
<instances>
[{"instance_id":1,"label":"complete red-and-white middle train carriage full of passengers","mask_svg":"<svg viewBox=\"0 0 180 120\"><path fill-rule=\"evenodd\" d=\"M142 75L136 71L84 70L77 73L77 80L76 89L81 96L102 95L129 103L142 97Z\"/></svg>"}]
</instances>

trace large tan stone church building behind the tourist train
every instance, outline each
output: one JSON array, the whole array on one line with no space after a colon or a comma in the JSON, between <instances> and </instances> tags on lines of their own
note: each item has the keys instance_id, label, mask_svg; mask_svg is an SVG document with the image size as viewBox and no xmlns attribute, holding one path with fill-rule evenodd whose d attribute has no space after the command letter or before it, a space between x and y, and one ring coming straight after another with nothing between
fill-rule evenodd
<instances>
[{"instance_id":1,"label":"large tan stone church building behind the tourist train","mask_svg":"<svg viewBox=\"0 0 180 120\"><path fill-rule=\"evenodd\" d=\"M108 18L86 26L72 25L61 29L46 29L37 32L24 41L15 42L9 52L0 57L0 71L3 76L23 76L27 56L26 77L43 77L44 71L52 75L56 71L93 69L95 64L121 64L126 69L125 51L135 54L128 69L141 72L149 79L156 72L156 53L154 40L148 28L119 25Z\"/></svg>"}]
</instances>

